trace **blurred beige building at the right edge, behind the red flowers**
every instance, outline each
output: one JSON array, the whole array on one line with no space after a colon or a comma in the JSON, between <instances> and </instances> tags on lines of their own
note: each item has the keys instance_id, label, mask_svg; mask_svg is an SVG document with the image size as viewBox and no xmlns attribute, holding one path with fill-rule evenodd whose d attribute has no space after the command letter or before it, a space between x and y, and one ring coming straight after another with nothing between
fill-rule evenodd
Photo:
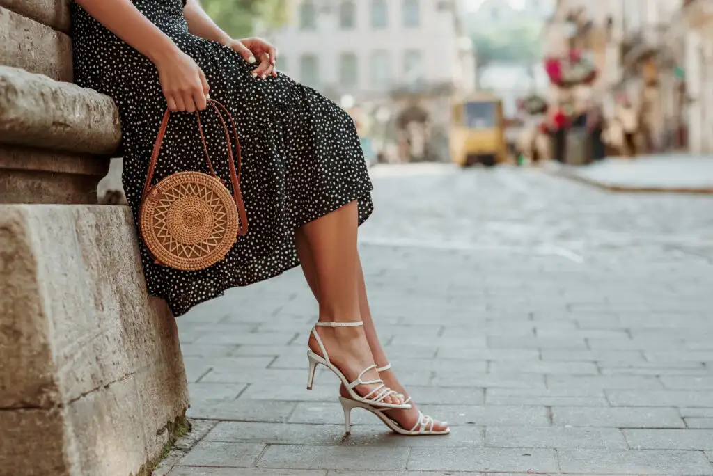
<instances>
[{"instance_id":1,"label":"blurred beige building at the right edge, behind the red flowers","mask_svg":"<svg viewBox=\"0 0 713 476\"><path fill-rule=\"evenodd\" d=\"M711 26L713 0L559 0L543 33L548 56L582 51L598 76L553 86L550 99L598 103L610 124L629 103L642 151L713 152Z\"/></svg>"}]
</instances>

